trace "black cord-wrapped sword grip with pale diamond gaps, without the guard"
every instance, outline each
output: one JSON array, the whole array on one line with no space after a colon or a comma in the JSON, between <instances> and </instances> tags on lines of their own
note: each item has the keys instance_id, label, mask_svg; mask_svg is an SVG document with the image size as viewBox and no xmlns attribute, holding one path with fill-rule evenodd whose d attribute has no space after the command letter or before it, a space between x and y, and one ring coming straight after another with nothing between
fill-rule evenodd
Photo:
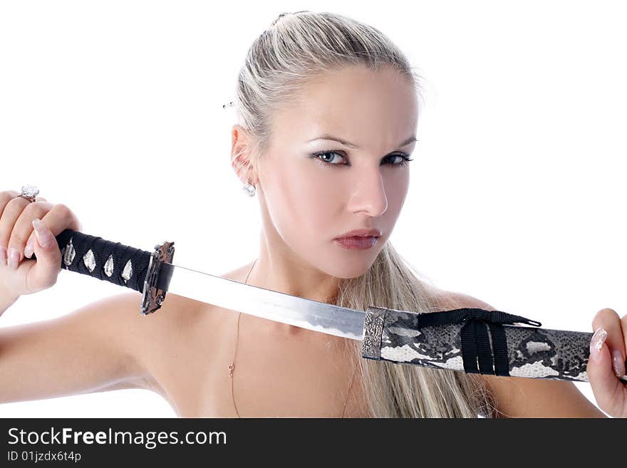
<instances>
[{"instance_id":1,"label":"black cord-wrapped sword grip with pale diamond gaps, without the guard","mask_svg":"<svg viewBox=\"0 0 627 468\"><path fill-rule=\"evenodd\" d=\"M56 236L61 268L142 293L152 252L66 229ZM35 254L31 256L36 259Z\"/></svg>"}]
</instances>

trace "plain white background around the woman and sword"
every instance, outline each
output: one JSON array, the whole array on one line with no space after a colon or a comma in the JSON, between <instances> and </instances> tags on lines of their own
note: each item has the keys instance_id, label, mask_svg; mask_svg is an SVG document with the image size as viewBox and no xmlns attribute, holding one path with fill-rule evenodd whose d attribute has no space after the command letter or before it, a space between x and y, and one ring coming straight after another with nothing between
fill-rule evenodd
<instances>
[{"instance_id":1,"label":"plain white background around the woman and sword","mask_svg":"<svg viewBox=\"0 0 627 468\"><path fill-rule=\"evenodd\" d=\"M304 9L379 28L425 77L391 237L411 264L545 328L592 331L601 308L626 313L618 1L2 1L0 189L36 184L86 234L149 251L175 241L176 263L190 268L223 274L252 261L257 198L230 167L234 113L222 104L254 38ZM62 271L0 325L118 292ZM588 383L576 385L594 402ZM0 405L0 417L33 416L175 413L145 390Z\"/></svg>"}]
</instances>

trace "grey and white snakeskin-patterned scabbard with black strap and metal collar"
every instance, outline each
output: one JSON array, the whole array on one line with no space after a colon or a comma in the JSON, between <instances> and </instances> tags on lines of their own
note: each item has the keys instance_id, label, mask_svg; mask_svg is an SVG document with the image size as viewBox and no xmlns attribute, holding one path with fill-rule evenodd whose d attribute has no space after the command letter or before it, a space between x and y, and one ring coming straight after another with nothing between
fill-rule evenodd
<instances>
[{"instance_id":1,"label":"grey and white snakeskin-patterned scabbard with black strap and metal collar","mask_svg":"<svg viewBox=\"0 0 627 468\"><path fill-rule=\"evenodd\" d=\"M507 323L529 323L534 327ZM501 311L366 311L364 358L466 373L588 381L592 333L539 328Z\"/></svg>"}]
</instances>

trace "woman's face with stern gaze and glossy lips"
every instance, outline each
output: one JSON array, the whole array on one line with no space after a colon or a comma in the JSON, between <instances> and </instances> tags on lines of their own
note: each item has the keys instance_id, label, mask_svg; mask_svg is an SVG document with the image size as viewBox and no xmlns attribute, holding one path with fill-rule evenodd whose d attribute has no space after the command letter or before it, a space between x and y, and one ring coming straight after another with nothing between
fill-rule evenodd
<instances>
[{"instance_id":1,"label":"woman's face with stern gaze and glossy lips","mask_svg":"<svg viewBox=\"0 0 627 468\"><path fill-rule=\"evenodd\" d=\"M289 255L338 278L366 273L408 190L412 163L403 155L411 155L418 125L411 84L391 68L343 68L311 80L272 125L257 168L271 255ZM346 249L334 240L364 228L380 230L369 249Z\"/></svg>"}]
</instances>

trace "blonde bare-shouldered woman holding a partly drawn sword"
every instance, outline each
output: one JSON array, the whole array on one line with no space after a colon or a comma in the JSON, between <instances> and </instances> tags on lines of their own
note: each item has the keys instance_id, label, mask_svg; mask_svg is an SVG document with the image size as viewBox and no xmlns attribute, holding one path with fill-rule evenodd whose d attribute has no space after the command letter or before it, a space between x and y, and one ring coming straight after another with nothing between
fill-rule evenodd
<instances>
[{"instance_id":1,"label":"blonde bare-shouldered woman holding a partly drawn sword","mask_svg":"<svg viewBox=\"0 0 627 468\"><path fill-rule=\"evenodd\" d=\"M377 29L336 14L281 14L249 49L234 102L232 166L259 196L259 256L222 276L361 310L493 310L419 279L388 241L408 191L418 86ZM81 226L65 205L0 195L4 311L56 282L53 236ZM569 382L366 360L354 340L174 294L149 318L137 304L125 293L1 329L0 402L145 388L182 417L604 416ZM610 353L623 375L627 327L611 309L595 316L593 328L601 326L606 340L597 340L602 331L593 338L600 353L589 379L598 405L625 416Z\"/></svg>"}]
</instances>

